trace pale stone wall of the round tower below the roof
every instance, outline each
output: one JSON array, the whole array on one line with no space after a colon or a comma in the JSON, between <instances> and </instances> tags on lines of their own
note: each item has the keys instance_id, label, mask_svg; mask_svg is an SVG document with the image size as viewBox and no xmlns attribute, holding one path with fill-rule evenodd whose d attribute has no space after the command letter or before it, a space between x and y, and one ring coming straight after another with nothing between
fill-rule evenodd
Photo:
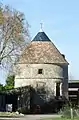
<instances>
[{"instance_id":1,"label":"pale stone wall of the round tower below the roof","mask_svg":"<svg viewBox=\"0 0 79 120\"><path fill-rule=\"evenodd\" d=\"M43 69L42 74L38 74L39 69ZM68 84L64 80L64 76L67 76L66 71L68 71L65 69L67 67L63 69L63 67L56 64L19 64L19 72L15 77L15 88L27 85L33 87L36 87L37 84L40 86L45 85L50 93L56 95L56 82L63 82L64 86ZM67 87L63 90L66 92Z\"/></svg>"}]
</instances>

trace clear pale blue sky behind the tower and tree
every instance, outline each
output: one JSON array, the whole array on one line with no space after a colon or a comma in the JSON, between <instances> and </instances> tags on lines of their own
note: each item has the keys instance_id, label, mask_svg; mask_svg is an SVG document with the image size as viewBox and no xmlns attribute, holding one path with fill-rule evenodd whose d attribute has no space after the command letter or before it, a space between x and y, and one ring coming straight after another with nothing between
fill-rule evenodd
<instances>
[{"instance_id":1,"label":"clear pale blue sky behind the tower and tree","mask_svg":"<svg viewBox=\"0 0 79 120\"><path fill-rule=\"evenodd\" d=\"M30 24L33 38L43 22L44 31L66 55L69 62L69 74L72 79L79 79L79 0L2 0L24 12ZM4 83L4 74L1 74Z\"/></svg>"}]
</instances>

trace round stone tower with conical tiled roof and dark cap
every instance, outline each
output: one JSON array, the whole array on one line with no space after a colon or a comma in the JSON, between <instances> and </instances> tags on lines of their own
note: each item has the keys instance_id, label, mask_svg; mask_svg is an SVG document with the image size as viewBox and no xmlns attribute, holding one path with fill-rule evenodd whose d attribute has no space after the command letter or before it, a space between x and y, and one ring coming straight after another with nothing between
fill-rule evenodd
<instances>
[{"instance_id":1,"label":"round stone tower with conical tiled roof and dark cap","mask_svg":"<svg viewBox=\"0 0 79 120\"><path fill-rule=\"evenodd\" d=\"M26 45L17 66L15 88L44 86L50 94L68 98L68 62L45 32Z\"/></svg>"}]
</instances>

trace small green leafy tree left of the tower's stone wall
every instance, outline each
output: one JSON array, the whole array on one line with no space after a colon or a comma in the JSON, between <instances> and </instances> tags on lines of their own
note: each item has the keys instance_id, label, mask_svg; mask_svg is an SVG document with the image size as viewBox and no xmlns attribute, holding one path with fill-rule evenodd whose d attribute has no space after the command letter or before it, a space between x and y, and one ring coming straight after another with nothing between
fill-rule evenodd
<instances>
[{"instance_id":1,"label":"small green leafy tree left of the tower's stone wall","mask_svg":"<svg viewBox=\"0 0 79 120\"><path fill-rule=\"evenodd\" d=\"M5 90L6 89L12 89L14 88L14 79L15 79L15 76L14 75L9 75L6 79L6 84L4 86Z\"/></svg>"}]
</instances>

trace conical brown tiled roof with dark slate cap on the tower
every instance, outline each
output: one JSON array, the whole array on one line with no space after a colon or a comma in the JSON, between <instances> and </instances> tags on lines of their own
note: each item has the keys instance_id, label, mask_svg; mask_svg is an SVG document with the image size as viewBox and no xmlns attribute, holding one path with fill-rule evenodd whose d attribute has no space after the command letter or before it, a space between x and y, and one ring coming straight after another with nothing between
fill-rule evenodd
<instances>
[{"instance_id":1,"label":"conical brown tiled roof with dark slate cap on the tower","mask_svg":"<svg viewBox=\"0 0 79 120\"><path fill-rule=\"evenodd\" d=\"M59 52L44 32L39 32L25 47L19 63L65 63L65 57Z\"/></svg>"}]
</instances>

